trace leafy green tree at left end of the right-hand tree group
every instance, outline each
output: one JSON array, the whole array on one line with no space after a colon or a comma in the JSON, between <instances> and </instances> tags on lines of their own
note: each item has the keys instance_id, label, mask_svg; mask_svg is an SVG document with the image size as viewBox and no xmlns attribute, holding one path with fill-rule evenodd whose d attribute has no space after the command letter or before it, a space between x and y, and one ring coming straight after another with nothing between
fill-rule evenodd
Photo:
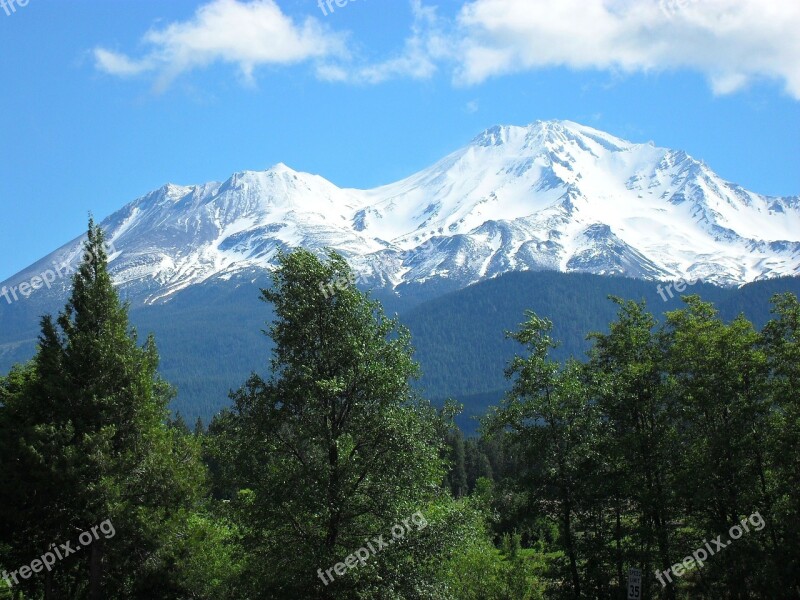
<instances>
[{"instance_id":1,"label":"leafy green tree at left end of the right-hand tree group","mask_svg":"<svg viewBox=\"0 0 800 600\"><path fill-rule=\"evenodd\" d=\"M520 330L509 334L525 347L526 355L516 356L506 370L506 376L514 378L513 386L487 426L490 431L510 429L524 448L530 465L525 478L531 486L528 494L539 514L558 523L558 544L567 559L561 576L569 582L568 597L578 599L587 580L579 555L579 531L586 523L579 515L587 512L588 476L600 423L587 401L580 364L568 361L562 367L552 360L549 353L556 347L550 336L552 323L532 312L527 316Z\"/></svg>"}]
</instances>

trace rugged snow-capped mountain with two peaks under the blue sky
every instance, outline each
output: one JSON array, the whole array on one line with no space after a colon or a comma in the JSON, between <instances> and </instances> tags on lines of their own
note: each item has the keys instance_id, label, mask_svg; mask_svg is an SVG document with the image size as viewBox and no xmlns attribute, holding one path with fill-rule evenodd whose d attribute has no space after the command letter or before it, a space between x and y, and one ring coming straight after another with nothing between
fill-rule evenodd
<instances>
[{"instance_id":1,"label":"rugged snow-capped mountain with two peaks under the blue sky","mask_svg":"<svg viewBox=\"0 0 800 600\"><path fill-rule=\"evenodd\" d=\"M724 181L685 152L569 121L493 127L402 181L341 189L279 164L166 185L102 222L115 281L153 303L269 269L281 248L342 252L364 283L450 287L510 270L741 285L800 274L800 197ZM75 261L79 238L11 278Z\"/></svg>"}]
</instances>

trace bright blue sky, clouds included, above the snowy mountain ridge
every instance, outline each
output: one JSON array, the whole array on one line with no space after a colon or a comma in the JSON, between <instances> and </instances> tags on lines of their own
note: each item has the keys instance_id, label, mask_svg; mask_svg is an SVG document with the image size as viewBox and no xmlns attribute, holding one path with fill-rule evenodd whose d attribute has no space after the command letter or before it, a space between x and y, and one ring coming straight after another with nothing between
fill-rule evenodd
<instances>
[{"instance_id":1,"label":"bright blue sky, clouds included, above the snowy mountain ridge","mask_svg":"<svg viewBox=\"0 0 800 600\"><path fill-rule=\"evenodd\" d=\"M372 187L486 127L537 119L800 194L800 3L332 6L0 2L0 280L81 234L89 211L102 219L166 182L284 162Z\"/></svg>"}]
</instances>

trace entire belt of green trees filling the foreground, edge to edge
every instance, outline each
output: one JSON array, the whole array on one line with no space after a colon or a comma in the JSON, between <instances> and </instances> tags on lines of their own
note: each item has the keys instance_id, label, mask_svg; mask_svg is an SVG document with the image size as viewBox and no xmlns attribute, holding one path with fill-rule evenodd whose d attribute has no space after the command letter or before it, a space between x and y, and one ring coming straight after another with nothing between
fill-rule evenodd
<instances>
[{"instance_id":1,"label":"entire belt of green trees filling the foreground, edge to edge","mask_svg":"<svg viewBox=\"0 0 800 600\"><path fill-rule=\"evenodd\" d=\"M261 293L268 374L192 431L102 242L90 223L100 260L0 379L0 597L611 600L630 569L645 599L800 594L795 294L758 327L696 295L663 319L598 300L608 322L566 359L528 310L509 392L465 439L457 404L414 387L402 322L325 293L339 255L293 251Z\"/></svg>"}]
</instances>

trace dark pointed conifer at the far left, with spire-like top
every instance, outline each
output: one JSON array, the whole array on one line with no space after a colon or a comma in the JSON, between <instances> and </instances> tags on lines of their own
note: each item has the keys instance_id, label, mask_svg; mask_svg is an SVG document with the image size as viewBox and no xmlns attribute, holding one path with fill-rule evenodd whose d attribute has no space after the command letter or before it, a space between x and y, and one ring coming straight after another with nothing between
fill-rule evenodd
<instances>
[{"instance_id":1,"label":"dark pointed conifer at the far left, with spire-like top","mask_svg":"<svg viewBox=\"0 0 800 600\"><path fill-rule=\"evenodd\" d=\"M139 346L113 288L104 235L89 222L57 320L42 319L32 364L4 388L0 493L18 564L108 521L111 535L21 581L30 597L174 597L165 532L203 491L199 447L166 427L172 389L149 337ZM108 529L108 527L107 527ZM110 529L109 529L110 533Z\"/></svg>"}]
</instances>

